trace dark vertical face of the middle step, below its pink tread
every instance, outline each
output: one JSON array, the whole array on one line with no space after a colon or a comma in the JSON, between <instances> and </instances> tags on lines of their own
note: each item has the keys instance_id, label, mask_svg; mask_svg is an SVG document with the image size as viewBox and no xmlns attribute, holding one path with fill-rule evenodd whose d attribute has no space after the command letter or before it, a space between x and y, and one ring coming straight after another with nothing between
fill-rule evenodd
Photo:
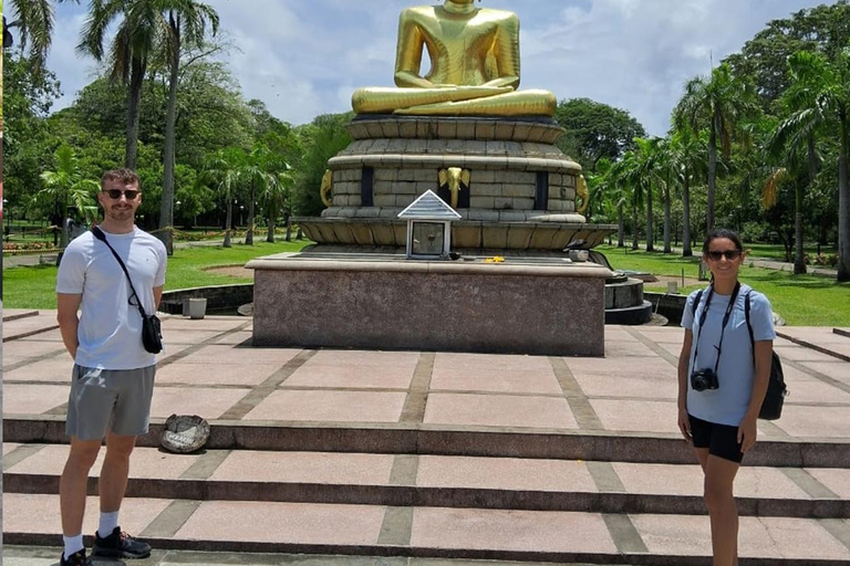
<instances>
[{"instance_id":1,"label":"dark vertical face of the middle step, below its pink tread","mask_svg":"<svg viewBox=\"0 0 850 566\"><path fill-rule=\"evenodd\" d=\"M3 492L56 495L59 494L59 476L7 472L3 473ZM89 495L96 494L97 480L90 478ZM504 509L665 515L705 515L707 513L703 497L697 495L417 485L131 478L126 496L191 501L386 505L393 507ZM742 516L850 518L850 501L841 499L736 497L736 501L738 514Z\"/></svg>"}]
</instances>

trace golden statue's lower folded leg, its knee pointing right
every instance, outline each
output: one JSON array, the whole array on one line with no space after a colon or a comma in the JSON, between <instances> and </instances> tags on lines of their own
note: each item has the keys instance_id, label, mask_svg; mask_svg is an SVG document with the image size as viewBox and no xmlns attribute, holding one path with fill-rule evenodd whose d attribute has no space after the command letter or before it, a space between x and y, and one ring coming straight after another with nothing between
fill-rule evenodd
<instances>
[{"instance_id":1,"label":"golden statue's lower folded leg, its knee pointing right","mask_svg":"<svg viewBox=\"0 0 850 566\"><path fill-rule=\"evenodd\" d=\"M519 91L486 98L423 104L395 111L415 116L554 116L558 99L549 91Z\"/></svg>"}]
</instances>

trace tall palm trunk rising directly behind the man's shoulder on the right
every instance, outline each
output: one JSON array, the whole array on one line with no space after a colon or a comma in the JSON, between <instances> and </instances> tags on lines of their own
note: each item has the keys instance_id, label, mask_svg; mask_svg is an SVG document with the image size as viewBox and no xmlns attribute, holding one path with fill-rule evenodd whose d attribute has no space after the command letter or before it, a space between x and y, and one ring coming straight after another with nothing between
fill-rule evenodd
<instances>
[{"instance_id":1,"label":"tall palm trunk rising directly behind the man's shoulder on the right","mask_svg":"<svg viewBox=\"0 0 850 566\"><path fill-rule=\"evenodd\" d=\"M159 232L157 237L165 244L168 255L174 254L174 161L175 124L177 122L177 82L180 70L180 24L174 12L168 14L168 27L173 34L170 76L168 77L168 106L165 114L165 159L163 167L163 201L159 206Z\"/></svg>"}]
</instances>

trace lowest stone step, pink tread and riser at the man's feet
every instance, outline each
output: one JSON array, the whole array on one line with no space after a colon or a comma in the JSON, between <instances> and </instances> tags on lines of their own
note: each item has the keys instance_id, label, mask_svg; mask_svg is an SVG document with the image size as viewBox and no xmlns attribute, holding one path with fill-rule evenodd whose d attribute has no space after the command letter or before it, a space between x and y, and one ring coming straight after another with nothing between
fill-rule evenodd
<instances>
[{"instance_id":1,"label":"lowest stone step, pink tread and riser at the man's feet","mask_svg":"<svg viewBox=\"0 0 850 566\"><path fill-rule=\"evenodd\" d=\"M55 546L58 509L56 495L6 494L4 543ZM85 533L96 510L90 497ZM129 499L121 521L159 551L645 566L707 566L711 555L706 515ZM742 566L850 566L850 524L742 517L740 547Z\"/></svg>"}]
</instances>

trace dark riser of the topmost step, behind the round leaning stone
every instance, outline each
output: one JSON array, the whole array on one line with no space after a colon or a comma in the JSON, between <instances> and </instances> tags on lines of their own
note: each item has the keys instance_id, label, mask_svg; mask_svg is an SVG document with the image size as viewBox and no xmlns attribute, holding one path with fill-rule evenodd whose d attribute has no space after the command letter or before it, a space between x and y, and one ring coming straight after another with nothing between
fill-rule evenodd
<instances>
[{"instance_id":1,"label":"dark riser of the topmost step, behind the round leaning stone","mask_svg":"<svg viewBox=\"0 0 850 566\"><path fill-rule=\"evenodd\" d=\"M64 416L7 415L6 442L68 443ZM448 429L424 424L346 424L282 421L210 421L207 449L366 452L384 454L489 455L560 460L693 463L681 437L582 430ZM158 447L163 419L137 446ZM748 465L850 468L847 440L761 440Z\"/></svg>"}]
</instances>

